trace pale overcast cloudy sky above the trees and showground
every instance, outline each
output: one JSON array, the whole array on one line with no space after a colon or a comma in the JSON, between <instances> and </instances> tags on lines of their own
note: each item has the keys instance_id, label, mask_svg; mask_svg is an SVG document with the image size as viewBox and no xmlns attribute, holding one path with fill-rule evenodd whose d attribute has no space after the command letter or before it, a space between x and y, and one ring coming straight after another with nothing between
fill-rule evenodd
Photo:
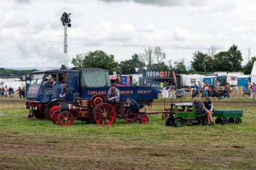
<instances>
[{"instance_id":1,"label":"pale overcast cloudy sky above the trees and showground","mask_svg":"<svg viewBox=\"0 0 256 170\"><path fill-rule=\"evenodd\" d=\"M160 46L166 61L196 50L236 44L243 64L256 55L256 1L239 0L1 0L0 67L71 65L76 54L104 50L129 60ZM63 12L71 13L68 56L63 55Z\"/></svg>"}]
</instances>

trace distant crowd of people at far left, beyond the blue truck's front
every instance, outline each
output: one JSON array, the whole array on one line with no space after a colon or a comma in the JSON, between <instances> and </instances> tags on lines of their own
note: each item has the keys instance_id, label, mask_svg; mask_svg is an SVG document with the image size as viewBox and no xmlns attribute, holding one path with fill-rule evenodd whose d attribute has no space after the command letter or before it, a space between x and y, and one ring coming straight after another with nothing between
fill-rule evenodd
<instances>
[{"instance_id":1,"label":"distant crowd of people at far left, beyond the blue truck's front","mask_svg":"<svg viewBox=\"0 0 256 170\"><path fill-rule=\"evenodd\" d=\"M26 93L26 90L25 90L25 87L19 87L18 90L14 91L13 87L9 86L9 88L7 87L7 85L5 85L5 87L0 87L0 96L1 97L13 97L13 94L15 92L18 92L18 95L20 97L20 99L25 98L25 93Z\"/></svg>"}]
</instances>

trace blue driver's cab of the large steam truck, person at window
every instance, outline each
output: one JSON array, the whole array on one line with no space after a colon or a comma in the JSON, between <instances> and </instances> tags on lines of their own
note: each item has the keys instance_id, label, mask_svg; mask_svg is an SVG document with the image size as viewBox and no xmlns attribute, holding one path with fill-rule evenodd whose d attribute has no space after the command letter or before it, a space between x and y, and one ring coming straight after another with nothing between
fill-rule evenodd
<instances>
[{"instance_id":1,"label":"blue driver's cab of the large steam truck, person at window","mask_svg":"<svg viewBox=\"0 0 256 170\"><path fill-rule=\"evenodd\" d=\"M75 93L79 93L79 71L37 71L28 86L27 99L42 103L56 99L71 102Z\"/></svg>"}]
</instances>

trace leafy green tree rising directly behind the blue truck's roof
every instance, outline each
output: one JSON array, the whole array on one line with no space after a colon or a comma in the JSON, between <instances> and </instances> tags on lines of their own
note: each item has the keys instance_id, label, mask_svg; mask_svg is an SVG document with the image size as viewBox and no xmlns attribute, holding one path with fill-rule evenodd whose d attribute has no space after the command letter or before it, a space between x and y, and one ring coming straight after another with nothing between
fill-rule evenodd
<instances>
[{"instance_id":1,"label":"leafy green tree rising directly behind the blue truck's roof","mask_svg":"<svg viewBox=\"0 0 256 170\"><path fill-rule=\"evenodd\" d=\"M86 54L77 54L75 58L72 58L71 63L75 67L96 67L107 69L110 74L113 73L118 67L118 63L115 61L115 56L112 54L106 54L102 50L96 50L94 52L87 52Z\"/></svg>"}]
</instances>

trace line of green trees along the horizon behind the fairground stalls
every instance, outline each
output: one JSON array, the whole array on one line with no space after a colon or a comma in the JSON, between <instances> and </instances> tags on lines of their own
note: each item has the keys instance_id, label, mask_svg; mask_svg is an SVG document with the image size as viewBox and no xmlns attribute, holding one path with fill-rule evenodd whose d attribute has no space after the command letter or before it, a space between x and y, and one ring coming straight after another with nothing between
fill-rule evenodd
<instances>
[{"instance_id":1,"label":"line of green trees along the horizon behind the fairground stalls","mask_svg":"<svg viewBox=\"0 0 256 170\"><path fill-rule=\"evenodd\" d=\"M155 48L144 49L142 54L133 54L131 59L123 60L121 62L115 61L115 56L112 54L106 54L102 50L90 51L84 54L77 54L72 58L71 63L75 67L98 67L102 69L108 69L110 74L113 71L121 71L122 74L135 74L140 73L140 69L147 67L150 71L168 71L174 70L176 73L214 73L216 71L225 72L244 72L245 75L251 74L253 68L253 62L256 60L256 56L249 58L249 61L242 67L242 53L238 50L236 45L230 46L227 51L216 52L216 48L212 46L208 49L207 54L201 51L195 51L193 53L191 61L191 69L187 70L185 66L185 60L168 60L164 62L166 58L166 52L159 46ZM136 72L135 68L139 68Z\"/></svg>"}]
</instances>

